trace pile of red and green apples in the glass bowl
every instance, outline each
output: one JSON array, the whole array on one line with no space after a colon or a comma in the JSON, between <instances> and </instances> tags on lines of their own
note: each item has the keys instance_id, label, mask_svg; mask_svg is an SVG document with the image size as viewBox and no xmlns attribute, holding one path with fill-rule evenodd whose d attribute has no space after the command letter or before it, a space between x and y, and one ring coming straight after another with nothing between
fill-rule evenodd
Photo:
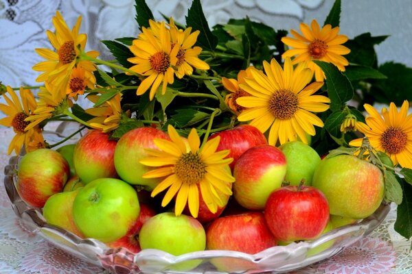
<instances>
[{"instance_id":1,"label":"pile of red and green apples in the glass bowl","mask_svg":"<svg viewBox=\"0 0 412 274\"><path fill-rule=\"evenodd\" d=\"M152 168L139 161L147 157L145 149L157 149L155 138L168 139L154 127L133 129L119 140L93 129L76 144L27 153L19 163L16 188L23 201L43 210L48 223L80 238L134 253L160 249L175 256L205 249L253 254L314 240L364 219L382 202L382 172L353 155L321 160L299 141L274 147L251 125L209 138L216 136L218 150L231 151L233 195L222 195L225 206L212 213L199 194L196 219L187 208L175 216L173 208L160 206L162 197L150 197L161 179L142 178ZM323 249L333 242L327 244ZM230 269L227 262L211 262ZM181 267L190 270L198 263Z\"/></svg>"}]
</instances>

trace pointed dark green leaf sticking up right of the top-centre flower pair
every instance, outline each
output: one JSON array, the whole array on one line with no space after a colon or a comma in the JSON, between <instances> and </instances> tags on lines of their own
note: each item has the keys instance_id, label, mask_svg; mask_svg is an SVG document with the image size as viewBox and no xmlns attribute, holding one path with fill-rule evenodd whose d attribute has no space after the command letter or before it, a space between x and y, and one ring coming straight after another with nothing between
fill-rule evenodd
<instances>
[{"instance_id":1,"label":"pointed dark green leaf sticking up right of the top-centre flower pair","mask_svg":"<svg viewBox=\"0 0 412 274\"><path fill-rule=\"evenodd\" d=\"M186 26L192 27L193 31L199 30L196 45L205 51L214 51L218 45L218 38L211 33L203 13L201 0L193 0L192 6L187 11Z\"/></svg>"}]
</instances>

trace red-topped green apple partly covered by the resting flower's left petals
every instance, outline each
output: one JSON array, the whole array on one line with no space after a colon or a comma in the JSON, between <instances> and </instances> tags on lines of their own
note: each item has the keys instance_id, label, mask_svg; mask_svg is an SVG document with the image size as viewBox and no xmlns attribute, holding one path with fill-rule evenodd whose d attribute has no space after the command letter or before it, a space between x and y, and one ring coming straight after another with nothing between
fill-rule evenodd
<instances>
[{"instance_id":1,"label":"red-topped green apple partly covered by the resting flower's left petals","mask_svg":"<svg viewBox=\"0 0 412 274\"><path fill-rule=\"evenodd\" d=\"M155 138L169 140L168 134L154 127L139 127L126 132L117 142L115 168L119 176L129 184L145 186L153 190L163 178L143 178L144 173L155 168L145 166L140 160L148 157L145 149L158 149Z\"/></svg>"}]
</instances>

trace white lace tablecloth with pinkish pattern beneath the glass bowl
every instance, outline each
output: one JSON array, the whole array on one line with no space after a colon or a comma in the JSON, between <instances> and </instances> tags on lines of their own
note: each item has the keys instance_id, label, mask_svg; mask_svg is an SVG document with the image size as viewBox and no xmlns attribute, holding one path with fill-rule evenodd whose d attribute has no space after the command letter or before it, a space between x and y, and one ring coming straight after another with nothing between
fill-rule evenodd
<instances>
[{"instance_id":1,"label":"white lace tablecloth with pinkish pattern beneath the glass bowl","mask_svg":"<svg viewBox=\"0 0 412 274\"><path fill-rule=\"evenodd\" d=\"M8 163L7 147L12 129L0 127L0 169ZM3 182L3 172L0 182ZM411 240L393 230L396 208L368 237L337 256L295 271L304 273L412 273ZM0 184L0 273L98 274L109 273L62 251L41 236L30 233L12 211L3 184Z\"/></svg>"}]
</instances>

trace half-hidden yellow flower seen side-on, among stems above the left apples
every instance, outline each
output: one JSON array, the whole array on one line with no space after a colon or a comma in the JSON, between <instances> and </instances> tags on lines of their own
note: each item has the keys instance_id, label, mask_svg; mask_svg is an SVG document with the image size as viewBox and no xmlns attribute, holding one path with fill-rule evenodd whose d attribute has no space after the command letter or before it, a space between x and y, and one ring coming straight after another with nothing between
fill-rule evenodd
<instances>
[{"instance_id":1,"label":"half-hidden yellow flower seen side-on, among stems above the left apples","mask_svg":"<svg viewBox=\"0 0 412 274\"><path fill-rule=\"evenodd\" d=\"M87 98L96 103L99 97L97 95L90 95ZM102 130L102 132L111 132L117 129L122 118L122 105L120 105L120 101L122 101L122 93L117 93L113 98L106 101L104 105L86 110L87 113L96 116L87 121L87 123L94 129Z\"/></svg>"}]
</instances>

